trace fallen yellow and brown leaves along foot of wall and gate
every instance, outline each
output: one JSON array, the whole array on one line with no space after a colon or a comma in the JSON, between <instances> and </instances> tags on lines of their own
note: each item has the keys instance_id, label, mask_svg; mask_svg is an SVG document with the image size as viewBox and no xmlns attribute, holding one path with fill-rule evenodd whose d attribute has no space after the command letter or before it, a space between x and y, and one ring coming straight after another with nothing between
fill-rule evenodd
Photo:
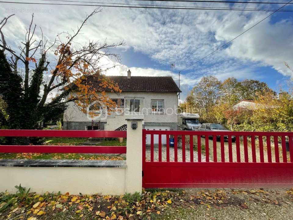
<instances>
[{"instance_id":1,"label":"fallen yellow and brown leaves along foot of wall and gate","mask_svg":"<svg viewBox=\"0 0 293 220\"><path fill-rule=\"evenodd\" d=\"M293 189L286 191L290 196ZM240 210L249 209L243 197L249 200L280 205L271 197L271 192L263 189L251 190L184 190L170 192L145 191L140 196L126 194L121 196L71 195L70 193L49 193L43 195L30 193L22 188L16 194L0 193L0 220L24 219L37 220L54 213L76 215L76 218L91 217L101 220L135 220L153 219L154 215L162 215L166 208L197 208L203 205L207 210L211 207L225 208L237 206ZM213 219L213 218L210 218Z\"/></svg>"}]
</instances>

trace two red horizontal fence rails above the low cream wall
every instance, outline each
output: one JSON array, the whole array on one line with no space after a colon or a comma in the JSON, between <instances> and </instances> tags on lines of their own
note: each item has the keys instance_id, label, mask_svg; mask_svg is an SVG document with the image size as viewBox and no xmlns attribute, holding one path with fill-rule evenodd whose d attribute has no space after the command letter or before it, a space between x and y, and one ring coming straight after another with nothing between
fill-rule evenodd
<instances>
[{"instance_id":1,"label":"two red horizontal fence rails above the low cream wall","mask_svg":"<svg viewBox=\"0 0 293 220\"><path fill-rule=\"evenodd\" d=\"M0 130L0 137L126 138L126 131ZM126 153L125 146L0 145L1 153Z\"/></svg>"}]
</instances>

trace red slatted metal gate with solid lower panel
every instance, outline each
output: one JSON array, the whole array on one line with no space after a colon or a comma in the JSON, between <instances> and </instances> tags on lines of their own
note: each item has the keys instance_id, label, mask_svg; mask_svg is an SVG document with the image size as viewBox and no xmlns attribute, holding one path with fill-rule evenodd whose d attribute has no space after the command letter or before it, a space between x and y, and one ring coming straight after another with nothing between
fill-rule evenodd
<instances>
[{"instance_id":1,"label":"red slatted metal gate with solid lower panel","mask_svg":"<svg viewBox=\"0 0 293 220\"><path fill-rule=\"evenodd\" d=\"M293 132L143 129L142 134L144 188L293 187ZM150 146L146 135L150 135ZM154 135L159 137L156 146ZM164 146L163 135L167 139ZM169 146L170 135L174 147Z\"/></svg>"}]
</instances>

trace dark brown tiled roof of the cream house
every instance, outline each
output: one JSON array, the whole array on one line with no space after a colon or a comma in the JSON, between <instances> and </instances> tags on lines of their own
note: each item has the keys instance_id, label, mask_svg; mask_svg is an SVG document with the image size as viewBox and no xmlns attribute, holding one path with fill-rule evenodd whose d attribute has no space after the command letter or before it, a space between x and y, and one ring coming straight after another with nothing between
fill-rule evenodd
<instances>
[{"instance_id":1,"label":"dark brown tiled roof of the cream house","mask_svg":"<svg viewBox=\"0 0 293 220\"><path fill-rule=\"evenodd\" d=\"M122 91L132 92L181 92L171 76L108 76ZM99 81L87 77L88 85L99 87Z\"/></svg>"}]
</instances>

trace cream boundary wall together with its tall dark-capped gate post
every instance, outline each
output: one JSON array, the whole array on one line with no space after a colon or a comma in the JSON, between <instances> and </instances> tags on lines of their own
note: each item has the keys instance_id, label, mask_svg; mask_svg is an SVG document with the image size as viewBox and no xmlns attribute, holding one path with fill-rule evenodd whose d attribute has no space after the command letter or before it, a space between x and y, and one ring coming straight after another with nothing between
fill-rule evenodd
<instances>
[{"instance_id":1,"label":"cream boundary wall together with its tall dark-capped gate post","mask_svg":"<svg viewBox=\"0 0 293 220\"><path fill-rule=\"evenodd\" d=\"M9 193L15 193L16 188L14 186L21 184L27 189L31 188L31 192L40 194L46 191L55 193L59 191L61 193L69 192L70 194L99 193L101 195L141 193L143 119L132 118L126 120L128 125L126 166L125 161L120 163L113 161L114 165L110 164L112 163L111 161L100 161L101 165L99 167L87 167L86 161L84 161L84 167L82 161L73 161L81 163L81 167L62 167L60 165L57 167L42 167L44 166L42 161L38 162L38 167L36 165L32 166L31 161L26 166L26 162L22 162L25 160L21 160L21 162L19 162L20 160L13 160L10 164L1 162L1 165L5 164L0 166L0 192L7 190ZM137 129L131 128L132 121L137 121ZM50 161L50 163L56 163L53 160ZM72 162L72 160L70 161ZM12 165L12 163L18 163L18 166ZM65 161L65 163L67 162ZM118 165L116 166L115 164Z\"/></svg>"}]
</instances>

